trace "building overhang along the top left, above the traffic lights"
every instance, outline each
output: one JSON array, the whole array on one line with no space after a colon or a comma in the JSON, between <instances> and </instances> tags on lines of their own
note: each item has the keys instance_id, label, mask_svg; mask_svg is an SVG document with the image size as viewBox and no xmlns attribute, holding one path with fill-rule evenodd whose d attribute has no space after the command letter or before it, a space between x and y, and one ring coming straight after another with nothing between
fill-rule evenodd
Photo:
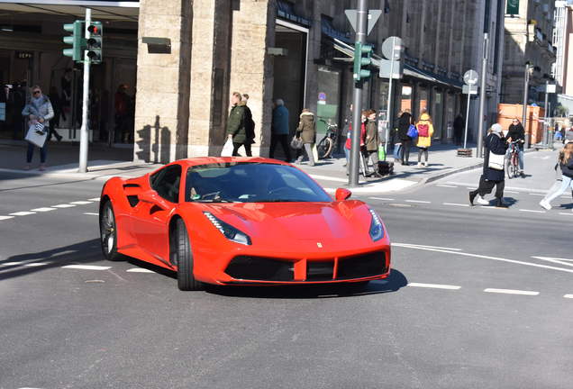
<instances>
[{"instance_id":1,"label":"building overhang along the top left, above the traffic lights","mask_svg":"<svg viewBox=\"0 0 573 389\"><path fill-rule=\"evenodd\" d=\"M92 10L94 20L137 22L140 13L139 1L106 0L29 0L14 2L0 0L0 10L18 14L54 14L77 18L86 15L86 8Z\"/></svg>"}]
</instances>

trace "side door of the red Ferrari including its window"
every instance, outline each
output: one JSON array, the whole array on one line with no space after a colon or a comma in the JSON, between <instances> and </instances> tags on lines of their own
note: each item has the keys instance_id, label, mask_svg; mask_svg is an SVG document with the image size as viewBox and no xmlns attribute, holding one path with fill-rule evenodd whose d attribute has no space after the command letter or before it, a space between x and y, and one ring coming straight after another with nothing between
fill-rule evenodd
<instances>
[{"instance_id":1,"label":"side door of the red Ferrari including its window","mask_svg":"<svg viewBox=\"0 0 573 389\"><path fill-rule=\"evenodd\" d=\"M156 261L168 262L168 218L179 203L182 167L168 165L150 176L150 186L162 200L159 204L140 201L133 214L133 231L138 245Z\"/></svg>"}]
</instances>

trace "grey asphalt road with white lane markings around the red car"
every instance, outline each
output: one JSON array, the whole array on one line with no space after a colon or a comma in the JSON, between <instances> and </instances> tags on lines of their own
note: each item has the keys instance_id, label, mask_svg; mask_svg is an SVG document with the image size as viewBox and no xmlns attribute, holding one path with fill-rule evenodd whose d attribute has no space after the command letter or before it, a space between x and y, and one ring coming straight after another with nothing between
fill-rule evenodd
<instances>
[{"instance_id":1,"label":"grey asphalt road with white lane markings around the red car","mask_svg":"<svg viewBox=\"0 0 573 389\"><path fill-rule=\"evenodd\" d=\"M508 210L468 206L478 172L360 196L394 270L358 292L179 292L103 260L101 181L4 174L0 388L570 388L571 199L543 212L536 192L551 158L506 183Z\"/></svg>"}]
</instances>

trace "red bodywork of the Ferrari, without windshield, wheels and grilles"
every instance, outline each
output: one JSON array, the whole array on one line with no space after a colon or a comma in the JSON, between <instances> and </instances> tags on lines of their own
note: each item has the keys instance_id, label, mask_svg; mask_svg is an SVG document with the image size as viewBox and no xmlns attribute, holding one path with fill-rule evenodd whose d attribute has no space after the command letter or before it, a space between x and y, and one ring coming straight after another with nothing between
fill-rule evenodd
<instances>
[{"instance_id":1,"label":"red bodywork of the Ferrari, without windshield, wheels and grilles","mask_svg":"<svg viewBox=\"0 0 573 389\"><path fill-rule=\"evenodd\" d=\"M369 236L372 215L368 205L358 200L320 203L194 203L185 202L187 169L197 165L227 162L260 162L287 165L267 158L189 158L173 164L182 167L179 203L159 199L158 204L141 201L151 191L150 174L123 179L109 179L102 190L102 204L112 202L120 253L177 270L169 263L169 224L175 217L186 223L194 258L197 280L217 285L277 285L340 283L379 279L390 271L390 241L384 226L384 237L376 242ZM163 168L163 167L161 167ZM159 169L158 169L159 170ZM154 172L155 173L155 172ZM152 193L151 193L152 195ZM226 239L205 212L250 236L251 245ZM379 256L384 272L369 276L337 276L341 266L363 255ZM292 280L244 279L225 272L233 258L264 258L288 263ZM310 263L332 267L331 279L309 279Z\"/></svg>"}]
</instances>

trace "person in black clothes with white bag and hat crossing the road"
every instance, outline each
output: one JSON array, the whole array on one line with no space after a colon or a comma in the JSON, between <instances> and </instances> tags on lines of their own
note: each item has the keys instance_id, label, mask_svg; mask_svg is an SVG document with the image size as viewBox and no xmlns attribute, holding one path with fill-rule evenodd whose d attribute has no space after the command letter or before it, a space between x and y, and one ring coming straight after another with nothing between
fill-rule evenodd
<instances>
[{"instance_id":1,"label":"person in black clothes with white bag and hat crossing the road","mask_svg":"<svg viewBox=\"0 0 573 389\"><path fill-rule=\"evenodd\" d=\"M484 173L479 177L479 186L469 192L469 204L488 205L484 196L490 194L496 186L496 207L507 208L504 203L505 163L504 156L507 151L507 142L502 133L502 126L494 124L484 139ZM477 196L477 198L476 198Z\"/></svg>"}]
</instances>

